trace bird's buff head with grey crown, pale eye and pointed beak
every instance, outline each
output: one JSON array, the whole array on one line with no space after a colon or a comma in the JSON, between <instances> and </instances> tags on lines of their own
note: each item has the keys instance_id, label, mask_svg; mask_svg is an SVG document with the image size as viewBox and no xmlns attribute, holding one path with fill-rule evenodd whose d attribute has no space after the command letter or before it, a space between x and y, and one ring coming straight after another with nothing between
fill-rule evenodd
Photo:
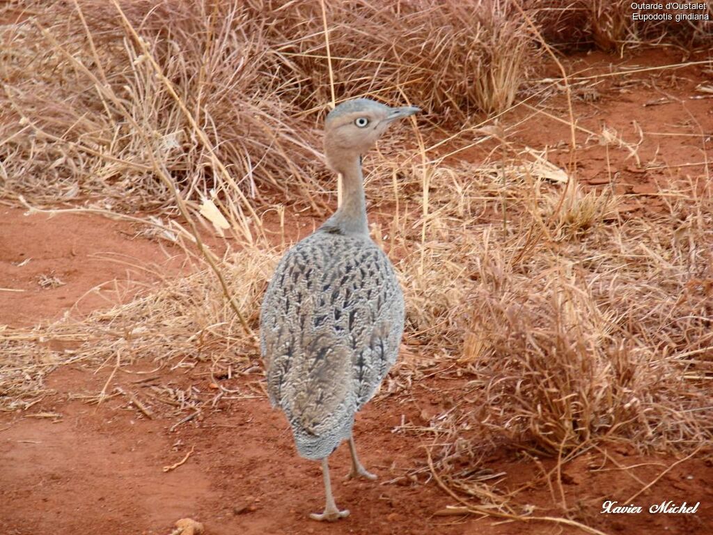
<instances>
[{"instance_id":1,"label":"bird's buff head with grey crown, pale eye and pointed beak","mask_svg":"<svg viewBox=\"0 0 713 535\"><path fill-rule=\"evenodd\" d=\"M324 154L329 167L342 165L369 151L396 119L421 111L415 106L391 108L369 98L346 101L327 115L324 123Z\"/></svg>"}]
</instances>

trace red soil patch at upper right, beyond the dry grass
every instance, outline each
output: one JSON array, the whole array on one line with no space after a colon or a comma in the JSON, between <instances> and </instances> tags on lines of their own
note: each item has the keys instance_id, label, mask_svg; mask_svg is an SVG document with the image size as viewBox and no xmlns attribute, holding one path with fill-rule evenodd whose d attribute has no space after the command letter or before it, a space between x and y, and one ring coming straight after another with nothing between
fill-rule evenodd
<instances>
[{"instance_id":1,"label":"red soil patch at upper right, beyond the dry grass","mask_svg":"<svg viewBox=\"0 0 713 535\"><path fill-rule=\"evenodd\" d=\"M709 177L710 173L706 162L713 144L713 98L697 89L709 85L706 81L712 76L710 63L597 78L585 85L578 81L578 77L620 71L622 67L638 70L710 60L707 54L683 58L662 49L628 51L626 60L602 52L570 58L567 68L572 77L573 116L576 125L585 130L575 130L578 183L585 188L611 185L615 193L624 196L622 213L664 210L667 198L660 195L660 190L691 177L701 193L711 195L709 178L700 177ZM543 74L543 78L560 76L556 66L550 66ZM532 104L539 100L533 99ZM535 113L527 106L506 113L502 126L513 126L506 140L516 150L528 146L542 151L546 147L547 158L567 169L572 133L564 83L560 83L558 94L548 98L544 111L556 118ZM614 131L631 151L617 147L617 143L598 143L596 136L586 132L598 136L602 128ZM477 163L496 146L495 141L482 143L456 158Z\"/></svg>"}]
</instances>

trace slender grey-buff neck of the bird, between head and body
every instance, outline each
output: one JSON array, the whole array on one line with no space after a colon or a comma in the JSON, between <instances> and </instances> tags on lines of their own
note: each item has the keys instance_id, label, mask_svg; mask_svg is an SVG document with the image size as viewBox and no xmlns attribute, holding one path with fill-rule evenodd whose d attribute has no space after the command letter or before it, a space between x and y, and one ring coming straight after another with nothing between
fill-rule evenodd
<instances>
[{"instance_id":1,"label":"slender grey-buff neck of the bird, between head and body","mask_svg":"<svg viewBox=\"0 0 713 535\"><path fill-rule=\"evenodd\" d=\"M366 220L366 198L364 197L364 176L361 175L361 158L351 159L340 165L342 174L342 205L327 220L327 225L342 233L369 235Z\"/></svg>"}]
</instances>

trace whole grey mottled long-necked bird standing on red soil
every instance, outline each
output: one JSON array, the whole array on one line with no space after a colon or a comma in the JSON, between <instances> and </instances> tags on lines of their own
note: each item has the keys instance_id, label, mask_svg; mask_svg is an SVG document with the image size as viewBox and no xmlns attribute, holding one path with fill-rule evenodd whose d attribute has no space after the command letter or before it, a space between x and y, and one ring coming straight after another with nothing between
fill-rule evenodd
<instances>
[{"instance_id":1,"label":"whole grey mottled long-necked bird standing on red soil","mask_svg":"<svg viewBox=\"0 0 713 535\"><path fill-rule=\"evenodd\" d=\"M389 126L421 111L369 98L344 101L324 121L327 165L342 175L342 204L279 261L260 311L260 351L273 407L287 416L297 452L320 461L318 521L349 516L334 502L329 455L349 442L348 478L376 479L359 461L354 415L376 394L404 331L394 266L369 236L361 156Z\"/></svg>"}]
</instances>

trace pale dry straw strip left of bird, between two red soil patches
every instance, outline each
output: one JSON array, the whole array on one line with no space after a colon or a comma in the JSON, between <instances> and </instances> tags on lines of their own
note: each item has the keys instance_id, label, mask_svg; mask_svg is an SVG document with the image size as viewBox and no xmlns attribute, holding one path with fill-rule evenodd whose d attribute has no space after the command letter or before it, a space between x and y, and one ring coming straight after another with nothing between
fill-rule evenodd
<instances>
[{"instance_id":1,"label":"pale dry straw strip left of bird, between two red soil patches","mask_svg":"<svg viewBox=\"0 0 713 535\"><path fill-rule=\"evenodd\" d=\"M230 292L253 330L260 296L278 259L275 251L250 248L221 263ZM48 393L46 374L71 362L116 369L139 360L170 369L210 362L239 373L255 367L251 359L258 356L255 333L242 330L210 270L165 281L158 290L82 320L66 315L32 329L1 329L0 411L31 407ZM96 401L97 394L87 397Z\"/></svg>"}]
</instances>

